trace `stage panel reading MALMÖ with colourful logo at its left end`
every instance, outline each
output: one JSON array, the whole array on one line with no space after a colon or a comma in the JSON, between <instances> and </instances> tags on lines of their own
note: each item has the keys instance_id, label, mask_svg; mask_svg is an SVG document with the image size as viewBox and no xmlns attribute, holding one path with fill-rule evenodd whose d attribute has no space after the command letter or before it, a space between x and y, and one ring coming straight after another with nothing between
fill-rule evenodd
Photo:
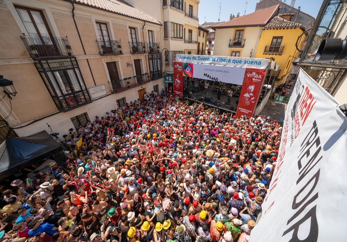
<instances>
[{"instance_id":1,"label":"stage panel reading MALM\u00d6 with colourful logo at its left end","mask_svg":"<svg viewBox=\"0 0 347 242\"><path fill-rule=\"evenodd\" d=\"M219 81L230 84L242 85L246 68L235 66L220 66L199 63L187 63L193 65L195 78ZM185 63L183 64L183 74L187 72ZM193 71L192 71L193 72Z\"/></svg>"}]
</instances>

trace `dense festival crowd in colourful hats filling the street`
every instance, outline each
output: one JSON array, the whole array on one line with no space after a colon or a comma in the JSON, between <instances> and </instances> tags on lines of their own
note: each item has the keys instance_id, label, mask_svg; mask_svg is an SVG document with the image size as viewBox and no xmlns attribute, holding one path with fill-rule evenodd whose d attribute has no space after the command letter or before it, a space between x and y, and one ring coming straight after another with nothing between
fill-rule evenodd
<instances>
[{"instance_id":1,"label":"dense festival crowd in colourful hats filling the street","mask_svg":"<svg viewBox=\"0 0 347 242\"><path fill-rule=\"evenodd\" d=\"M281 130L152 93L70 129L64 162L2 184L0 240L248 241Z\"/></svg>"}]
</instances>

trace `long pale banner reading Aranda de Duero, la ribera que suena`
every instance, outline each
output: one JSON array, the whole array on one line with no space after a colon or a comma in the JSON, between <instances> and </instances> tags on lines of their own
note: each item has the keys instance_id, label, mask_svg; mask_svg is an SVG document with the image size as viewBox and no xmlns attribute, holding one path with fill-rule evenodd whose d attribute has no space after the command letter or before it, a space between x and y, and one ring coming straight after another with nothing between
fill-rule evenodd
<instances>
[{"instance_id":1,"label":"long pale banner reading Aranda de Duero, la ribera que suena","mask_svg":"<svg viewBox=\"0 0 347 242\"><path fill-rule=\"evenodd\" d=\"M213 55L183 55L176 54L176 61L194 62L225 66L238 66L248 68L266 69L269 59L233 57L233 56L213 56Z\"/></svg>"}]
</instances>

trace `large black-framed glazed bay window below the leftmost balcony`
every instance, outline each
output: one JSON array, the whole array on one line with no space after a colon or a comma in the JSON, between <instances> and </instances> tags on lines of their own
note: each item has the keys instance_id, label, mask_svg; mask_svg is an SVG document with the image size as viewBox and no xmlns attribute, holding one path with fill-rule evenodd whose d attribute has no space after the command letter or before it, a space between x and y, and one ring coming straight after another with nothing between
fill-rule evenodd
<instances>
[{"instance_id":1,"label":"large black-framed glazed bay window below the leftmost balcony","mask_svg":"<svg viewBox=\"0 0 347 242\"><path fill-rule=\"evenodd\" d=\"M34 62L58 110L67 111L91 102L75 58Z\"/></svg>"}]
</instances>

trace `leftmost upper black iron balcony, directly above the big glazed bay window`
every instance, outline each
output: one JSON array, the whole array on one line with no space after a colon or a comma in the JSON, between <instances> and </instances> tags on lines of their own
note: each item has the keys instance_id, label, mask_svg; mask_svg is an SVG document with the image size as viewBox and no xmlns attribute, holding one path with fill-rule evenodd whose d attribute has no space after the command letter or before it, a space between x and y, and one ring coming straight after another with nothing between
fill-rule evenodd
<instances>
[{"instance_id":1,"label":"leftmost upper black iron balcony, directly above the big glazed bay window","mask_svg":"<svg viewBox=\"0 0 347 242\"><path fill-rule=\"evenodd\" d=\"M72 56L71 46L66 38L20 36L25 47L33 58L51 56Z\"/></svg>"}]
</instances>

